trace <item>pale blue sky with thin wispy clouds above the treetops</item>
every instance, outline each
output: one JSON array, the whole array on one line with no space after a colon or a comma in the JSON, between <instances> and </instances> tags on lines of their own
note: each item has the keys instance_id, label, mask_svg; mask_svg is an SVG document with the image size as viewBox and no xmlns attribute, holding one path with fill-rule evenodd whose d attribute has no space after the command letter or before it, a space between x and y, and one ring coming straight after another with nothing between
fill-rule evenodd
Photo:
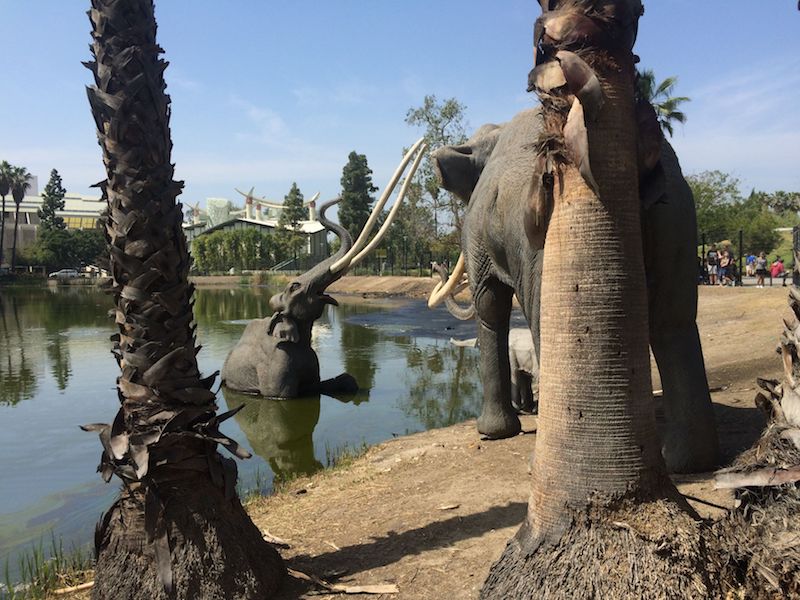
<instances>
[{"instance_id":1,"label":"pale blue sky with thin wispy clouds above the treetops","mask_svg":"<svg viewBox=\"0 0 800 600\"><path fill-rule=\"evenodd\" d=\"M636 52L679 78L687 173L720 169L750 188L800 191L800 12L795 0L645 0ZM84 87L88 2L0 0L0 160L69 191L103 178ZM766 8L768 7L768 8ZM351 150L383 187L420 132L426 94L467 106L468 131L533 104L534 0L160 0L170 62L173 162L184 203L280 201L339 190Z\"/></svg>"}]
</instances>

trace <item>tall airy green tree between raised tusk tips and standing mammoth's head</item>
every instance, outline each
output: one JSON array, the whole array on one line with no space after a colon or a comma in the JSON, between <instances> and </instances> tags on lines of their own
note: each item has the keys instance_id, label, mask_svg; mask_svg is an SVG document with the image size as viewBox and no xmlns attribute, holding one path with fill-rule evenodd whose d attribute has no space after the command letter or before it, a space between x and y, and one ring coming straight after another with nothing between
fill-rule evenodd
<instances>
[{"instance_id":1,"label":"tall airy green tree between raised tusk tips and standing mammoth's head","mask_svg":"<svg viewBox=\"0 0 800 600\"><path fill-rule=\"evenodd\" d=\"M464 207L453 194L439 188L430 153L442 146L463 144L467 140L464 124L466 108L455 98L439 102L436 96L429 95L423 99L422 106L410 108L406 113L406 123L421 127L428 144L428 154L415 177L431 206L435 236L439 235L439 211L442 208L448 210L450 222L460 234Z\"/></svg>"}]
</instances>

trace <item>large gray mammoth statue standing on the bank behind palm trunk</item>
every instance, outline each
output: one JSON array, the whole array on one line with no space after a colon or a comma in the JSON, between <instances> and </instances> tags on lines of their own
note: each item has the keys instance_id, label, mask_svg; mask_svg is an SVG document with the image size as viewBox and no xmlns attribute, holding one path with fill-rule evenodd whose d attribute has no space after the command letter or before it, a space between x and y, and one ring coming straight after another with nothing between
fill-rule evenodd
<instances>
[{"instance_id":1,"label":"large gray mammoth statue standing on the bank behind palm trunk","mask_svg":"<svg viewBox=\"0 0 800 600\"><path fill-rule=\"evenodd\" d=\"M546 218L531 226L526 208L541 180L534 176L541 172L535 149L541 127L540 112L530 109L501 126L484 125L464 145L434 153L442 187L467 203L461 248L481 352L484 401L478 430L490 438L520 430L510 400L508 348L515 294L538 352ZM640 193L650 344L664 388L663 451L672 471L708 470L717 464L719 450L695 323L694 199L671 146L662 139L660 156L658 150L656 145L655 166L640 177ZM570 277L568 270L564 277ZM569 365L564 369L565 377L580 376L569 373Z\"/></svg>"}]
</instances>

